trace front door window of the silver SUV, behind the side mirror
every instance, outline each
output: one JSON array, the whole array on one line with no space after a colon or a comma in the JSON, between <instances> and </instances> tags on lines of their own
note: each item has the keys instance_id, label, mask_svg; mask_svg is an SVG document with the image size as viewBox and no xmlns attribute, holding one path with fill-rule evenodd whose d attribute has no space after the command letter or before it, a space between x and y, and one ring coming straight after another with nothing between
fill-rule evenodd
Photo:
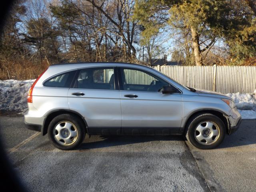
<instances>
[{"instance_id":1,"label":"front door window of the silver SUV, behind the side mirror","mask_svg":"<svg viewBox=\"0 0 256 192\"><path fill-rule=\"evenodd\" d=\"M138 69L121 68L121 76L123 90L127 91L160 92L163 86L171 86L154 74Z\"/></svg>"}]
</instances>

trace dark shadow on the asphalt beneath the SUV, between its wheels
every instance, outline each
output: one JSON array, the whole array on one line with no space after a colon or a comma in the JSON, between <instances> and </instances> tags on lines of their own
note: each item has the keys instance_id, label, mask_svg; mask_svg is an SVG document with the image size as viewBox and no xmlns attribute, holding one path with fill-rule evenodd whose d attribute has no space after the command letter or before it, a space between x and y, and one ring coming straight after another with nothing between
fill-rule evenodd
<instances>
[{"instance_id":1,"label":"dark shadow on the asphalt beneath the SUV, between its wheels","mask_svg":"<svg viewBox=\"0 0 256 192\"><path fill-rule=\"evenodd\" d=\"M99 140L100 139L100 140ZM78 150L104 148L111 146L121 146L127 144L151 142L151 141L182 141L180 135L170 136L92 136L86 138Z\"/></svg>"}]
</instances>

